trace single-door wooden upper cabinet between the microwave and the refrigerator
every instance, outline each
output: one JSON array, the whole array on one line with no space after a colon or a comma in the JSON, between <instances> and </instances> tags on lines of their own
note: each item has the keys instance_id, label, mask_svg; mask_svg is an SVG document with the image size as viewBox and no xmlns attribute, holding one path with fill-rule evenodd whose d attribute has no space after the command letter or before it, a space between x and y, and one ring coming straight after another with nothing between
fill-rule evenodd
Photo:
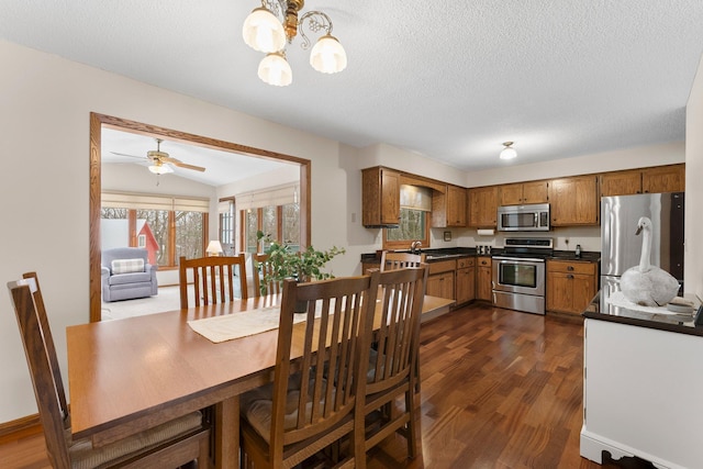
<instances>
[{"instance_id":1,"label":"single-door wooden upper cabinet between the microwave and the refrigerator","mask_svg":"<svg viewBox=\"0 0 703 469\"><path fill-rule=\"evenodd\" d=\"M598 179L598 176L577 176L549 182L553 226L599 223Z\"/></svg>"}]
</instances>

